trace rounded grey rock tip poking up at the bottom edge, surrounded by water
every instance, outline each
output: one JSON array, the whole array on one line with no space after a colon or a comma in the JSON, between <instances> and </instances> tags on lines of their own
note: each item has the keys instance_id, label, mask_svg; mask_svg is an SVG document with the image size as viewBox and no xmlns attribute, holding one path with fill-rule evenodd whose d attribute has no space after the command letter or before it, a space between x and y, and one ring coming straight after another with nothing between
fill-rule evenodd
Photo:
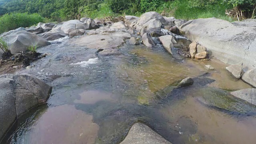
<instances>
[{"instance_id":1,"label":"rounded grey rock tip poking up at the bottom edge, surrounded by water","mask_svg":"<svg viewBox=\"0 0 256 144\"><path fill-rule=\"evenodd\" d=\"M136 123L130 128L126 138L120 144L172 144L151 128L142 123Z\"/></svg>"}]
</instances>

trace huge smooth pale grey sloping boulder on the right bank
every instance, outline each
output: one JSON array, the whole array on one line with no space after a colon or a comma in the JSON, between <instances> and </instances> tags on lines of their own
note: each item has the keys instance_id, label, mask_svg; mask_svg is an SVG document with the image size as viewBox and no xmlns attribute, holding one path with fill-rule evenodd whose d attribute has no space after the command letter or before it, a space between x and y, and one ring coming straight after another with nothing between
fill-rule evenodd
<instances>
[{"instance_id":1,"label":"huge smooth pale grey sloping boulder on the right bank","mask_svg":"<svg viewBox=\"0 0 256 144\"><path fill-rule=\"evenodd\" d=\"M179 27L190 41L206 46L212 55L224 63L243 62L243 69L256 66L256 29L235 26L226 20L200 18Z\"/></svg>"}]
</instances>

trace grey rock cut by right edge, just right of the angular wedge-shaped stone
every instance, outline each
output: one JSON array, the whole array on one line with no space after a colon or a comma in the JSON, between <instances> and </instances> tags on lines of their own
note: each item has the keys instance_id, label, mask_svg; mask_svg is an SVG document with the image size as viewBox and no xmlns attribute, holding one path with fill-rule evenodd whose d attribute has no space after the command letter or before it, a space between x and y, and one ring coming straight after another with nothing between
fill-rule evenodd
<instances>
[{"instance_id":1,"label":"grey rock cut by right edge, just right of the angular wedge-shaped stone","mask_svg":"<svg viewBox=\"0 0 256 144\"><path fill-rule=\"evenodd\" d=\"M242 76L242 80L256 88L256 68L245 72Z\"/></svg>"}]
</instances>

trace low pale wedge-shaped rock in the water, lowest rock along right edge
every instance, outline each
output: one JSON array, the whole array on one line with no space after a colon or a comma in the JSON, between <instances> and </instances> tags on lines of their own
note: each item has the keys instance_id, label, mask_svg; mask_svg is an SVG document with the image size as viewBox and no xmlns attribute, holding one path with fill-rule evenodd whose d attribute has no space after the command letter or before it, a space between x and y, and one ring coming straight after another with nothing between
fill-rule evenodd
<instances>
[{"instance_id":1,"label":"low pale wedge-shaped rock in the water, lowest rock along right edge","mask_svg":"<svg viewBox=\"0 0 256 144\"><path fill-rule=\"evenodd\" d=\"M237 90L231 92L231 94L237 98L241 98L242 100L246 100L247 102L256 105L256 88Z\"/></svg>"}]
</instances>

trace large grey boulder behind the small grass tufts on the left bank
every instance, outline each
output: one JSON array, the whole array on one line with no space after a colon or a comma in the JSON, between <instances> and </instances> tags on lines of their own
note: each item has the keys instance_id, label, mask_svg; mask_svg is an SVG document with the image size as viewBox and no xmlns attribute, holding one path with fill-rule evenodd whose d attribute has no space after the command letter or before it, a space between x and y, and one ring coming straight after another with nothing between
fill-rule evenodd
<instances>
[{"instance_id":1,"label":"large grey boulder behind the small grass tufts on the left bank","mask_svg":"<svg viewBox=\"0 0 256 144\"><path fill-rule=\"evenodd\" d=\"M7 40L12 54L16 54L20 51L26 51L27 47L31 45L47 46L51 44L44 38L26 31L12 32L12 34L4 36L4 38Z\"/></svg>"}]
</instances>

